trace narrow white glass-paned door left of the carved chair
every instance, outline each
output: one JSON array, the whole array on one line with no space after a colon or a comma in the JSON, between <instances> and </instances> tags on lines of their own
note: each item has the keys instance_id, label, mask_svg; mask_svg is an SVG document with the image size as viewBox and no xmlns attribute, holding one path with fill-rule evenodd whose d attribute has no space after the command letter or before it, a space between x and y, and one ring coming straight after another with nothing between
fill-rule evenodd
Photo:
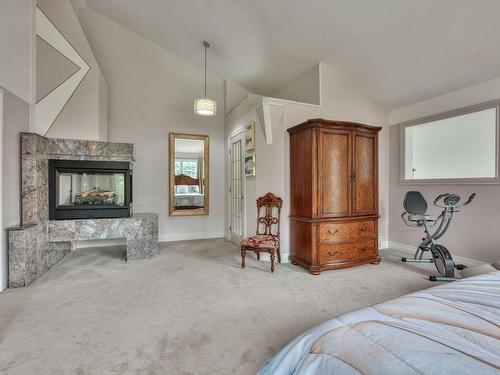
<instances>
[{"instance_id":1,"label":"narrow white glass-paned door left of the carved chair","mask_svg":"<svg viewBox=\"0 0 500 375\"><path fill-rule=\"evenodd\" d=\"M244 196L243 196L243 134L230 139L230 226L231 241L240 245L245 233Z\"/></svg>"}]
</instances>

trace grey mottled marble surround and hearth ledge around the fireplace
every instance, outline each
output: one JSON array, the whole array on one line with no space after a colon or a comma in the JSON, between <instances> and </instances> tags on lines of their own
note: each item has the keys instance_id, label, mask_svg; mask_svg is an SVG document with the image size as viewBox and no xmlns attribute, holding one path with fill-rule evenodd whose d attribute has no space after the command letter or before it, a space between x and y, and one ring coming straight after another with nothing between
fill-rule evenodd
<instances>
[{"instance_id":1,"label":"grey mottled marble surround and hearth ledge around the fireplace","mask_svg":"<svg viewBox=\"0 0 500 375\"><path fill-rule=\"evenodd\" d=\"M7 229L10 288L31 284L68 254L79 240L125 238L127 261L158 255L156 214L49 220L49 159L133 162L134 145L21 133L21 226Z\"/></svg>"}]
</instances>

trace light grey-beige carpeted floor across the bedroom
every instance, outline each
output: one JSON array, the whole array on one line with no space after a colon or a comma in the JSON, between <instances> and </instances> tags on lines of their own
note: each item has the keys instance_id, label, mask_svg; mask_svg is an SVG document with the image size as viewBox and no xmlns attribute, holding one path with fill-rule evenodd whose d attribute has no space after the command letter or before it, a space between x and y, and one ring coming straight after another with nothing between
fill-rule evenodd
<instances>
[{"instance_id":1,"label":"light grey-beige carpeted floor across the bedroom","mask_svg":"<svg viewBox=\"0 0 500 375\"><path fill-rule=\"evenodd\" d=\"M431 265L312 276L222 240L163 244L126 264L123 248L69 254L36 282L0 293L0 374L254 374L296 335L350 310L420 290Z\"/></svg>"}]
</instances>

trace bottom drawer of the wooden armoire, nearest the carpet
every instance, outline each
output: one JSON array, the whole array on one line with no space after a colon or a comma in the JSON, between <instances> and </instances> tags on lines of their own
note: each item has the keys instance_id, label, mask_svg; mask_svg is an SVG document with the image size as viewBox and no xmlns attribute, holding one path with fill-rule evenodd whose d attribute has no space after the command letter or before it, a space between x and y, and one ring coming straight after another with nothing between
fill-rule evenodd
<instances>
[{"instance_id":1,"label":"bottom drawer of the wooden armoire, nearest the carpet","mask_svg":"<svg viewBox=\"0 0 500 375\"><path fill-rule=\"evenodd\" d=\"M352 260L369 257L375 254L375 239L345 242L341 244L320 245L319 258L321 263L341 260Z\"/></svg>"}]
</instances>

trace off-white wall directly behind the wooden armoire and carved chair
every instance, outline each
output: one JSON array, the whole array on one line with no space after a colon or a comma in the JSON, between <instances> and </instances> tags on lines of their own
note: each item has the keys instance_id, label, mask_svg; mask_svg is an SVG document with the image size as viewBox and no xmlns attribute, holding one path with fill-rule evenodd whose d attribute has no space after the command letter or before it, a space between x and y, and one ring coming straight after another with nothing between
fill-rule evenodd
<instances>
[{"instance_id":1,"label":"off-white wall directly behind the wooden armoire and carved chair","mask_svg":"<svg viewBox=\"0 0 500 375\"><path fill-rule=\"evenodd\" d=\"M289 246L289 196L290 196L290 163L289 163L289 137L287 128L297 125L310 118L323 117L333 120L346 120L362 122L369 125L384 126L379 136L379 235L381 241L388 238L388 143L387 119L388 112L366 97L363 88L354 80L342 75L334 68L320 64L321 69L321 106L292 103L285 100L270 99L273 105L273 144L266 144L263 120L256 101L262 97L252 96L243 101L230 114L226 116L226 136L249 121L257 122L256 141L256 177L255 195L252 189L246 193L246 228L247 234L255 233L255 216L250 217L249 212L255 211L257 196L272 191L283 198L282 211L282 252L288 253ZM267 100L267 99L266 99ZM226 158L227 159L227 158ZM227 162L227 160L226 160ZM251 180L250 180L250 183ZM246 181L248 186L249 181ZM226 230L229 221L226 215Z\"/></svg>"}]
</instances>

